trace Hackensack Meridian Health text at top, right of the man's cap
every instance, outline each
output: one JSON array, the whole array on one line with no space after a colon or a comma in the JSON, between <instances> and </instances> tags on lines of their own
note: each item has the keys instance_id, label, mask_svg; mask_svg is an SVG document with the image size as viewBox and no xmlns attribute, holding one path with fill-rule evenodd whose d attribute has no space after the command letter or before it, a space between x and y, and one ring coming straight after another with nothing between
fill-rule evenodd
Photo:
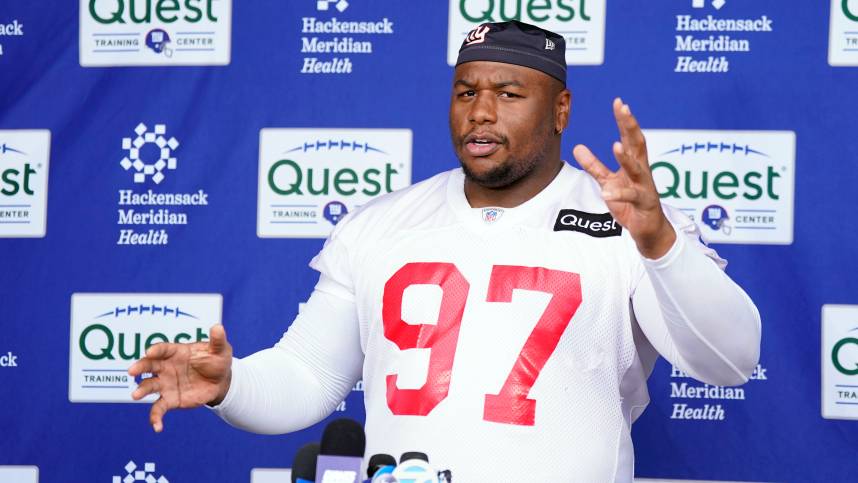
<instances>
[{"instance_id":1,"label":"Hackensack Meridian Health text at top, right of the man's cap","mask_svg":"<svg viewBox=\"0 0 858 483\"><path fill-rule=\"evenodd\" d=\"M676 14L674 72L729 72L732 60L751 52L753 45L769 37L765 34L774 31L768 15L741 15L726 5L726 0L691 0L690 9Z\"/></svg>"}]
</instances>

